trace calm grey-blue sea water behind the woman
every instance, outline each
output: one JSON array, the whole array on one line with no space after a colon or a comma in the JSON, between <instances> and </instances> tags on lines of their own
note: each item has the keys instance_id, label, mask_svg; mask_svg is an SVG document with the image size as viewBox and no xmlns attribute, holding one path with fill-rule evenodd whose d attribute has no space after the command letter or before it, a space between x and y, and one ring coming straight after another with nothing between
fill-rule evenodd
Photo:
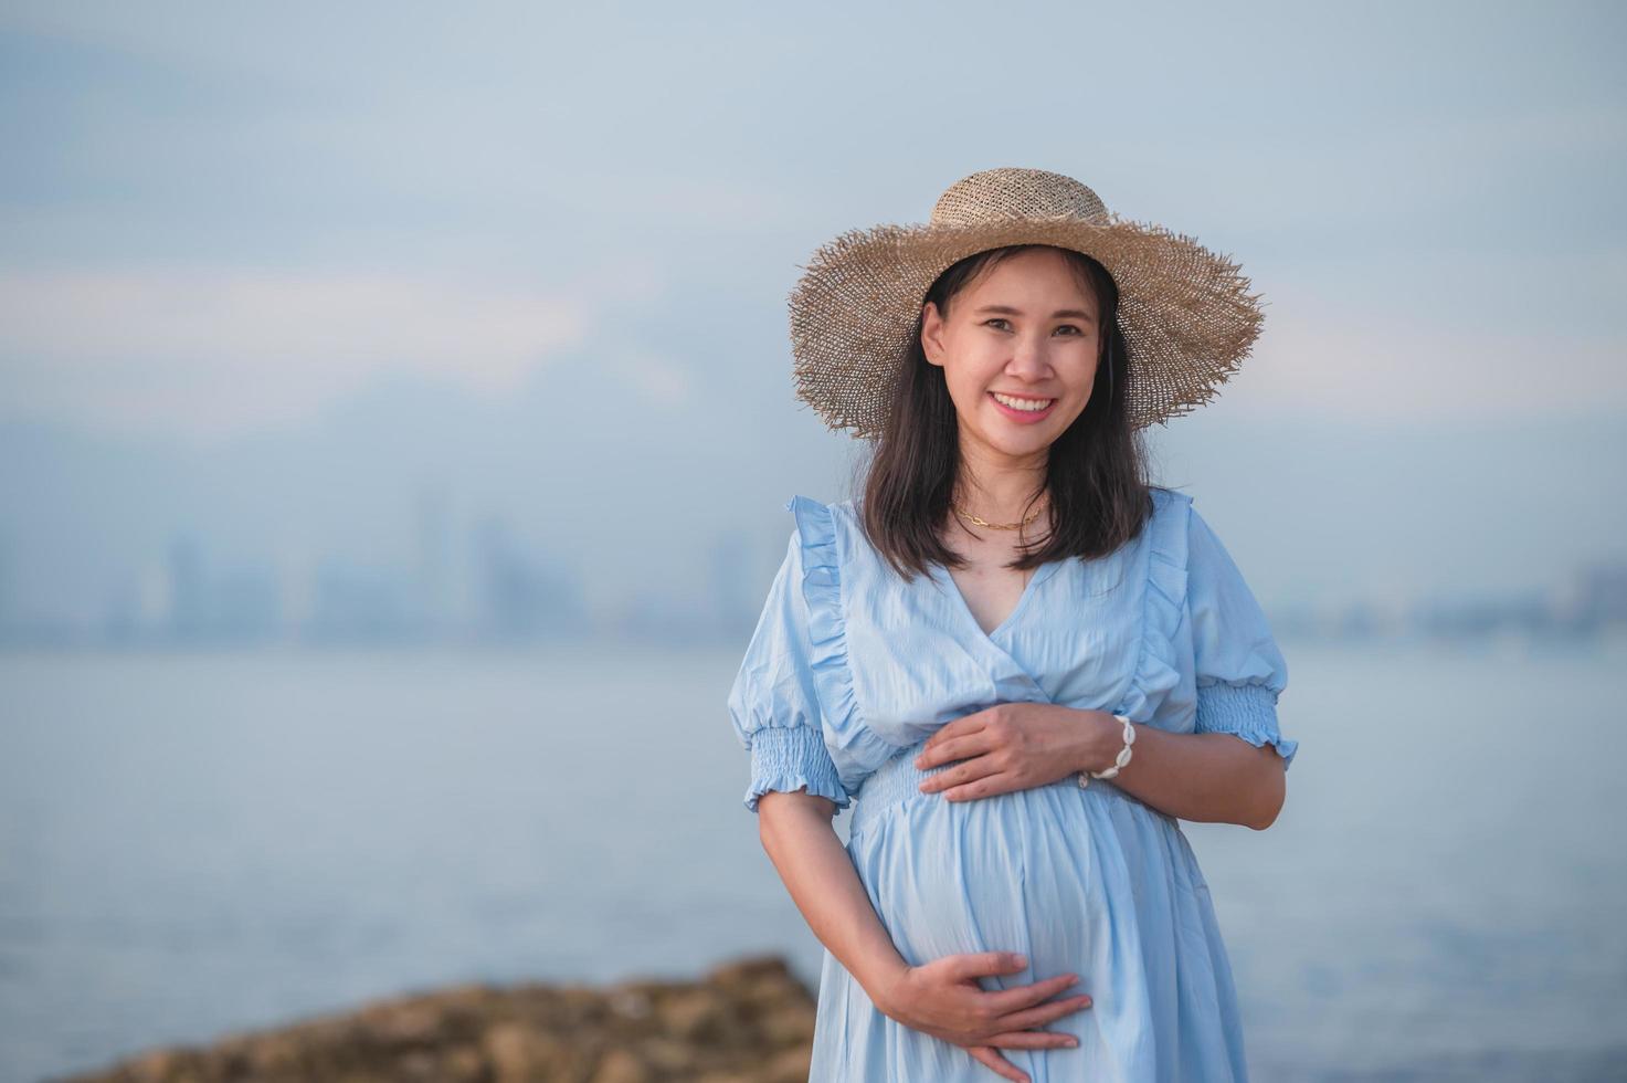
<instances>
[{"instance_id":1,"label":"calm grey-blue sea water behind the woman","mask_svg":"<svg viewBox=\"0 0 1627 1083\"><path fill-rule=\"evenodd\" d=\"M1284 651L1282 816L1183 822L1256 1080L1627 1076L1627 650ZM0 1078L451 982L815 984L737 663L0 656Z\"/></svg>"}]
</instances>

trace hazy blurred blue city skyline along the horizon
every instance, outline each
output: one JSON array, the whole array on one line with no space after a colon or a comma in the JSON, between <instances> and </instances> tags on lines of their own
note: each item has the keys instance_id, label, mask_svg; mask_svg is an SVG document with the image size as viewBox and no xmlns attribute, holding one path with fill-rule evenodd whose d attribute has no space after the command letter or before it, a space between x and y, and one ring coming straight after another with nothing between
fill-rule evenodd
<instances>
[{"instance_id":1,"label":"hazy blurred blue city skyline along the horizon","mask_svg":"<svg viewBox=\"0 0 1627 1083\"><path fill-rule=\"evenodd\" d=\"M129 560L93 619L24 614L8 539L0 534L0 648L205 645L501 645L514 642L744 642L781 546L722 531L683 581L635 585L591 607L568 552L516 534L499 511L467 515L441 487L420 485L397 536L373 536L397 560L317 552L277 560L171 533L161 554ZM691 539L691 544L698 539ZM264 550L260 550L264 552ZM1246 572L1245 572L1246 573ZM1487 637L1590 640L1627 635L1627 555L1547 568L1536 586L1485 591L1363 591L1279 599L1267 617L1289 638ZM1253 578L1253 577L1251 577Z\"/></svg>"}]
</instances>

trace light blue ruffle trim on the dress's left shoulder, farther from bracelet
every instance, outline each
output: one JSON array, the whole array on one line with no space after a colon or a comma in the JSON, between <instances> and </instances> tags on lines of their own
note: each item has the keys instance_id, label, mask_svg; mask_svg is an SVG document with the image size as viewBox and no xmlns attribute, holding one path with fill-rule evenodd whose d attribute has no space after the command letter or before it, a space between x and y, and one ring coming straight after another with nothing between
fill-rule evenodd
<instances>
[{"instance_id":1,"label":"light blue ruffle trim on the dress's left shoulder, farther from bracelet","mask_svg":"<svg viewBox=\"0 0 1627 1083\"><path fill-rule=\"evenodd\" d=\"M849 764L885 762L896 749L870 733L853 692L848 664L848 625L841 604L841 555L836 521L828 505L792 497L786 510L796 516L802 542L802 598L809 607L810 668L825 730ZM840 767L840 764L838 764Z\"/></svg>"}]
</instances>

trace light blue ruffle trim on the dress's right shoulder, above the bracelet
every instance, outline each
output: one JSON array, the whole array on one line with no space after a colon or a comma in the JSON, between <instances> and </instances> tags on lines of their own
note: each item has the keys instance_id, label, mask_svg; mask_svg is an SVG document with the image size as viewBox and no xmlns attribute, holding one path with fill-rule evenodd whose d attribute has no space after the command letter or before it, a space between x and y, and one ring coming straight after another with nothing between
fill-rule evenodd
<instances>
[{"instance_id":1,"label":"light blue ruffle trim on the dress's right shoulder, above the bracelet","mask_svg":"<svg viewBox=\"0 0 1627 1083\"><path fill-rule=\"evenodd\" d=\"M1186 606L1186 526L1193 498L1154 489L1147 523L1147 583L1142 598L1141 653L1118 713L1149 721L1155 704L1181 682L1175 634Z\"/></svg>"}]
</instances>

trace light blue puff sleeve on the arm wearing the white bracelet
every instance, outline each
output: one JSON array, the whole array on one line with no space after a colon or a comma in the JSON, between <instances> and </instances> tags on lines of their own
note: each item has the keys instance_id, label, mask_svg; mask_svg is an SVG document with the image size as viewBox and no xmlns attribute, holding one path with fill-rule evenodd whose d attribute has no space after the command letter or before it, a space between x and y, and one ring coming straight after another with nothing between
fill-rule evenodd
<instances>
[{"instance_id":1,"label":"light blue puff sleeve on the arm wearing the white bracelet","mask_svg":"<svg viewBox=\"0 0 1627 1083\"><path fill-rule=\"evenodd\" d=\"M1191 508L1186 555L1186 620L1197 684L1196 733L1232 733L1261 748L1267 741L1293 764L1298 741L1282 736L1277 697L1289 666L1266 614L1225 546Z\"/></svg>"}]
</instances>

